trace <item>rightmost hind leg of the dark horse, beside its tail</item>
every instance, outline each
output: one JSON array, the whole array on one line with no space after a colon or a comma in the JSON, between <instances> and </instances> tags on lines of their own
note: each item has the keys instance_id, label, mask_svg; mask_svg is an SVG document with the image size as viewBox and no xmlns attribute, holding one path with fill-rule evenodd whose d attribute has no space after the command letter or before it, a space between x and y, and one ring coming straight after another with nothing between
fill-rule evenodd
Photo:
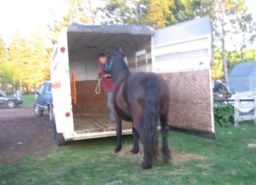
<instances>
[{"instance_id":1,"label":"rightmost hind leg of the dark horse, beside its tail","mask_svg":"<svg viewBox=\"0 0 256 185\"><path fill-rule=\"evenodd\" d=\"M166 115L161 113L160 114L160 122L162 127L162 137L163 137L163 146L162 146L162 153L163 153L163 163L167 164L170 159L170 150L168 148L167 143L167 136L168 136L168 124Z\"/></svg>"}]
</instances>

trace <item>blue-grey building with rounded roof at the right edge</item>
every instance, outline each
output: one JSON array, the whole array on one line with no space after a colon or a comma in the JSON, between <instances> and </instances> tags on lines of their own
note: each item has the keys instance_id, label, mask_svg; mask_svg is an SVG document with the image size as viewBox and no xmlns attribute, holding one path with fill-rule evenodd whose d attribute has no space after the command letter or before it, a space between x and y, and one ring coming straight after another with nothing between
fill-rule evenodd
<instances>
[{"instance_id":1,"label":"blue-grey building with rounded roof at the right edge","mask_svg":"<svg viewBox=\"0 0 256 185\"><path fill-rule=\"evenodd\" d=\"M229 74L229 90L232 93L256 88L256 61L244 62L234 66Z\"/></svg>"}]
</instances>

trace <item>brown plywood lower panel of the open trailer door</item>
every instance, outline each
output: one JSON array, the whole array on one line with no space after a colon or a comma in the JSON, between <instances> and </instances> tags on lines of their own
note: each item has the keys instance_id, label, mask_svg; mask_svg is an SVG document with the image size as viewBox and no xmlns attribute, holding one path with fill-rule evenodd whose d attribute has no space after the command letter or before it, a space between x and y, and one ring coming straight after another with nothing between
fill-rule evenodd
<instances>
[{"instance_id":1,"label":"brown plywood lower panel of the open trailer door","mask_svg":"<svg viewBox=\"0 0 256 185\"><path fill-rule=\"evenodd\" d=\"M208 70L160 74L170 91L168 124L211 130Z\"/></svg>"}]
</instances>

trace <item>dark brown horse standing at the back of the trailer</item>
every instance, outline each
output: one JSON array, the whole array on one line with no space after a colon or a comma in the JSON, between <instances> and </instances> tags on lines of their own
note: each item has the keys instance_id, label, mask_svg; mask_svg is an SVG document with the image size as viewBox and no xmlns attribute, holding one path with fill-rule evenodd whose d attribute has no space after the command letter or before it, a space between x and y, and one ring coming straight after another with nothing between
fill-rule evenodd
<instances>
[{"instance_id":1,"label":"dark brown horse standing at the back of the trailer","mask_svg":"<svg viewBox=\"0 0 256 185\"><path fill-rule=\"evenodd\" d=\"M121 52L111 54L114 75L113 105L115 109L117 145L121 150L121 120L133 122L134 145L132 153L139 152L138 137L143 144L142 169L150 169L158 154L157 125L161 122L163 161L167 163L170 151L167 144L167 113L169 90L165 80L155 73L131 73ZM112 65L112 64L111 64Z\"/></svg>"}]
</instances>

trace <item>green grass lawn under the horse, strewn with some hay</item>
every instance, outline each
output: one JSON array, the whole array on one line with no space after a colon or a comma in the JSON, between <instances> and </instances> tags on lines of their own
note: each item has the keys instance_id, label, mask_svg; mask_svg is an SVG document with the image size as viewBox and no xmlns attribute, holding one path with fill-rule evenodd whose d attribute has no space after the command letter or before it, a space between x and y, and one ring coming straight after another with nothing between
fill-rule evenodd
<instances>
[{"instance_id":1,"label":"green grass lawn under the horse, strewn with some hay","mask_svg":"<svg viewBox=\"0 0 256 185\"><path fill-rule=\"evenodd\" d=\"M1 166L0 184L254 184L256 149L247 145L256 143L255 133L253 122L216 127L217 141L169 132L176 159L168 165L157 160L151 170L141 170L141 158L129 152L115 154L115 137L69 142L47 156ZM132 142L122 136L122 149Z\"/></svg>"}]
</instances>

